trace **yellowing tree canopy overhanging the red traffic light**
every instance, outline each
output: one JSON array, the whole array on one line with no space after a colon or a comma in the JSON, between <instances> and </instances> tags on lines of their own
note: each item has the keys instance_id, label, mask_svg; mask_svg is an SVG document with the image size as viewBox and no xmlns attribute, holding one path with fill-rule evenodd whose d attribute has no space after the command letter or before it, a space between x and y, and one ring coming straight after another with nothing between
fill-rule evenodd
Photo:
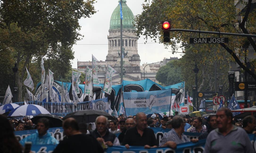
<instances>
[{"instance_id":1,"label":"yellowing tree canopy overhanging the red traffic light","mask_svg":"<svg viewBox=\"0 0 256 153\"><path fill-rule=\"evenodd\" d=\"M191 29L202 31L217 31L229 33L256 33L256 11L251 10L251 0L244 3L246 6L243 10L236 9L234 1L186 1L186 0L152 0L145 1L143 12L135 17L137 33L145 35L146 39L158 38L162 40L161 20L171 20L172 28ZM239 1L239 3L243 3ZM246 28L245 28L246 22ZM216 37L214 34L199 34L201 37ZM189 37L198 37L198 33L171 32L171 42L165 43L173 51L182 47L189 46ZM179 46L181 44L181 46ZM248 72L254 79L256 74L243 62L244 55L248 55L248 45L251 44L256 52L256 45L251 37L229 36L228 44L212 45L210 48L216 49L217 59L227 52L231 55L232 60ZM193 45L196 50L193 52L201 53L206 44ZM224 50L224 49L225 50ZM211 52L213 49L208 50ZM255 66L255 59L250 59L250 65Z\"/></svg>"}]
</instances>

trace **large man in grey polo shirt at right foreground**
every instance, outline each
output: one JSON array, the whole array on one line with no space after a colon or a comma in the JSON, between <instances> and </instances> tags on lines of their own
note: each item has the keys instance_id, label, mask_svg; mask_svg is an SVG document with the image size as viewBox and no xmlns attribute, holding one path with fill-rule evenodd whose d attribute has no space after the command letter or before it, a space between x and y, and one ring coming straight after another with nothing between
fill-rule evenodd
<instances>
[{"instance_id":1,"label":"large man in grey polo shirt at right foreground","mask_svg":"<svg viewBox=\"0 0 256 153\"><path fill-rule=\"evenodd\" d=\"M232 124L232 113L229 109L221 108L216 115L218 128L209 133L204 153L255 152L246 131Z\"/></svg>"}]
</instances>

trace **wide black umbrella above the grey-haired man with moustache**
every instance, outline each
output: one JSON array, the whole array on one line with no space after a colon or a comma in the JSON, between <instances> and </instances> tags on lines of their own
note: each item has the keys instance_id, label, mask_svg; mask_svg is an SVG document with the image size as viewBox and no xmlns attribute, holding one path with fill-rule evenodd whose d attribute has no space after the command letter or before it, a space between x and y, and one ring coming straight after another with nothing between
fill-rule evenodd
<instances>
[{"instance_id":1,"label":"wide black umbrella above the grey-haired man with moustache","mask_svg":"<svg viewBox=\"0 0 256 153\"><path fill-rule=\"evenodd\" d=\"M83 122L83 123L91 123L91 122L95 122L96 118L98 116L105 116L108 119L113 119L112 116L105 112L105 111L99 111L99 110L79 110L73 113L69 113L67 114L63 120L72 117L74 119L76 119L77 122Z\"/></svg>"}]
</instances>

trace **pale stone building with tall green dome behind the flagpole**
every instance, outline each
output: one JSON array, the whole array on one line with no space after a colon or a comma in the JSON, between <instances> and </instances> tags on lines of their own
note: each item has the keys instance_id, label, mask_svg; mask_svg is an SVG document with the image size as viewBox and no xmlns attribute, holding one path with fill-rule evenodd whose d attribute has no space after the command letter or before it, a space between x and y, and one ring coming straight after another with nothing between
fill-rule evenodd
<instances>
[{"instance_id":1,"label":"pale stone building with tall green dome behind the flagpole","mask_svg":"<svg viewBox=\"0 0 256 153\"><path fill-rule=\"evenodd\" d=\"M120 2L120 1L119 1ZM121 25L120 25L120 5L116 6L114 9L109 26L108 35L108 55L105 61L99 61L98 63L98 78L101 83L104 83L105 72L107 65L111 65L117 72L112 77L112 84L121 83L121 43L124 48L123 56L123 68L124 75L123 80L127 81L139 81L141 80L141 69L140 69L140 56L138 55L137 40L136 35L134 15L131 9L127 6L126 0L122 0L122 28L123 37L121 41ZM96 57L97 58L97 57ZM92 68L91 61L78 61L77 68L78 71L84 72L86 66Z\"/></svg>"}]
</instances>

